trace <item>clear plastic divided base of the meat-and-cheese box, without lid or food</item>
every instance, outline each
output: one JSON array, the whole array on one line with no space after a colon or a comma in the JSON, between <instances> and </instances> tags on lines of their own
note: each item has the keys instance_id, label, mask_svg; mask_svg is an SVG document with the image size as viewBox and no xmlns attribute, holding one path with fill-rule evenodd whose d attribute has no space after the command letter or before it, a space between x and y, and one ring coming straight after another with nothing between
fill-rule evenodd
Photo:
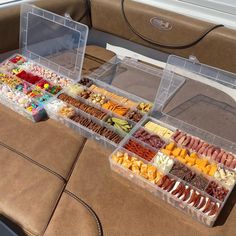
<instances>
[{"instance_id":1,"label":"clear plastic divided base of the meat-and-cheese box, without lid or food","mask_svg":"<svg viewBox=\"0 0 236 236\"><path fill-rule=\"evenodd\" d=\"M186 167L188 167L192 172L194 172L196 175L201 175L204 178L206 178L208 180L208 183L205 187L204 190L202 189L198 189L197 187L191 185L190 182L186 182L185 180L171 174L171 171L167 171L167 172L163 172L163 170L160 168L160 166L158 166L157 164L154 164L155 161L155 157L150 160L147 161L145 159L142 158L142 156L139 156L135 153L133 153L132 151L126 149L124 146L127 144L127 142L129 140L135 140L136 142L140 143L143 147L148 147L151 150L155 150L153 149L153 147L143 141L140 141L139 139L134 138L134 134L140 130L143 129L147 132L150 133L150 135L156 135L155 132L150 131L149 129L145 128L145 124L147 124L148 122L152 122L155 123L161 127L164 127L166 129L169 129L171 131L173 131L173 133L175 133L177 130L183 131L188 135L191 135L192 137L198 137L199 139L211 144L211 145L219 145L219 143L222 143L222 148L224 148L224 150L228 153L232 153L234 155L234 158L236 158L235 156L235 144L224 140L220 137L217 137L209 132L206 132L204 130L200 130L200 129L196 129L196 127L191 126L183 121L180 121L178 119L175 119L173 117L170 117L168 115L162 114L162 117L160 117L159 119L155 119L153 117L146 117L145 119L143 119L136 127L135 129L132 131L132 133L130 133L124 141L122 141L122 143L119 145L119 147L110 155L109 157L109 161L110 161L110 166L111 169L115 172L117 172L118 174L122 175L123 177L129 179L131 182L133 182L136 185L139 185L141 188L144 188L145 190L151 192L152 194L154 194L154 196L161 198L162 200L166 201L167 203L171 204L172 206L174 206L175 208L183 211L184 213L190 215L191 217L193 217L194 219L196 219L197 221L212 227L218 217L218 215L220 214L221 210L223 209L224 205L227 204L227 199L230 196L231 192L234 190L235 187L235 181L236 181L236 168L234 169L229 169L228 167L225 167L223 164L218 163L214 160L211 160L209 157L205 157L205 156L199 156L199 159L206 159L208 161L209 164L212 165L217 165L217 167L220 168L224 168L227 170L230 170L232 172L234 172L235 175L235 181L234 184L231 186L226 186L224 185L222 182L220 182L218 179L216 179L214 176L209 176L208 174L205 174L201 171L198 171L196 168L193 168L192 166L188 166L186 164ZM170 142L174 142L174 140L171 138L173 137L173 135L171 135L171 137L168 139L166 139L165 137L162 137L159 135L159 137L161 139L163 139L166 142L166 145ZM181 147L181 148L186 148L186 147L182 147L181 145L178 145L176 143L177 147ZM194 153L194 151L186 148L189 153ZM158 150L156 149L156 153L158 151L160 151L161 148ZM204 214L202 211L198 210L196 207L193 207L191 204L187 204L186 202L181 201L181 199L173 196L172 194L170 194L167 191L164 191L163 189L159 188L156 184L151 183L150 181L148 181L147 179L143 178L140 175L135 174L134 172L132 172L130 169L125 168L124 166L122 166L121 164L118 164L117 162L115 162L113 160L113 156L114 154L116 154L117 152L122 152L122 153L127 153L132 157L137 157L139 160L142 160L144 163L148 163L150 165L155 165L157 167L157 170L159 170L163 175L170 175L172 177L174 177L175 179L178 179L180 182L184 183L186 186L191 186L191 188L197 190L197 192L199 193L204 193L204 196L206 196L207 198L211 199L214 202L217 202L217 204L220 204L220 208L218 210L218 212L214 215L214 216L208 216L209 212ZM173 156L169 156L170 159L174 160L174 163L180 163L179 160L177 160L175 157ZM172 166L173 168L173 166ZM171 169L170 169L171 170ZM209 195L208 193L204 192L207 191L207 188L210 184L210 182L214 181L215 183L218 184L218 186L223 187L224 189L228 189L228 193L226 195L226 197L224 198L223 201L220 201L217 198L214 198L213 196ZM182 196L181 196L182 197Z\"/></svg>"}]
</instances>

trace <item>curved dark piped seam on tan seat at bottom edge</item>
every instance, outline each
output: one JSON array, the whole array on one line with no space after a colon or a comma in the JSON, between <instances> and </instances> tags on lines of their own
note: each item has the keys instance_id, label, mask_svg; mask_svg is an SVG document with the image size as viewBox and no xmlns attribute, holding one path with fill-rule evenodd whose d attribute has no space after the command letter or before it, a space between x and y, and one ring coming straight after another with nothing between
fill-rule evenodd
<instances>
[{"instance_id":1,"label":"curved dark piped seam on tan seat at bottom edge","mask_svg":"<svg viewBox=\"0 0 236 236\"><path fill-rule=\"evenodd\" d=\"M98 215L96 214L96 212L92 209L91 206L89 206L84 200L82 200L81 198L79 198L78 196L76 196L75 194L73 194L72 192L70 192L69 190L64 190L64 193L67 194L68 196L74 198L74 200L76 200L77 202L79 202L81 205L83 205L88 212L92 215L92 217L94 218L94 220L96 221L97 224L97 230L98 230L98 236L103 236L103 229L102 229L102 224L100 219L98 218Z\"/></svg>"}]
</instances>

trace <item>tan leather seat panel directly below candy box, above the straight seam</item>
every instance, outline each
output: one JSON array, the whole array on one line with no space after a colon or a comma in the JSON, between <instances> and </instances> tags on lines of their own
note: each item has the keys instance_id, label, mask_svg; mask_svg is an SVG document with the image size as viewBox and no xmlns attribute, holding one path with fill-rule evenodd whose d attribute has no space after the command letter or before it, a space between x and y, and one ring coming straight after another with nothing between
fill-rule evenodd
<instances>
[{"instance_id":1,"label":"tan leather seat panel directly below candy box, above the straight seam","mask_svg":"<svg viewBox=\"0 0 236 236\"><path fill-rule=\"evenodd\" d=\"M33 123L0 106L0 142L67 178L84 138L53 120Z\"/></svg>"}]
</instances>

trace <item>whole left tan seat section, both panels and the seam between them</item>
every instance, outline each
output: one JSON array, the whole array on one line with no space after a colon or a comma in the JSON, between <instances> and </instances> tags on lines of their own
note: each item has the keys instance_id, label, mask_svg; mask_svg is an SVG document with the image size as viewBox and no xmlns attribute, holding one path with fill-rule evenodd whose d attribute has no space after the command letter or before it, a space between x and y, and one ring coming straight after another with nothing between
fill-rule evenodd
<instances>
[{"instance_id":1,"label":"whole left tan seat section, both panels and the seam between them","mask_svg":"<svg viewBox=\"0 0 236 236\"><path fill-rule=\"evenodd\" d=\"M0 212L42 235L85 139L53 120L34 124L0 112Z\"/></svg>"}]
</instances>

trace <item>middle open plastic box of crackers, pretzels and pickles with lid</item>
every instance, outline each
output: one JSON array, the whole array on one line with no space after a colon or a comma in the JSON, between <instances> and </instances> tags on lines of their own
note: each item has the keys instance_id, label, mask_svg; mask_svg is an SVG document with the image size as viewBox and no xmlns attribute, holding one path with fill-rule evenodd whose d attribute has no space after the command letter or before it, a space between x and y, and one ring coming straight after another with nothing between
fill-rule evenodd
<instances>
[{"instance_id":1,"label":"middle open plastic box of crackers, pretzels and pickles with lid","mask_svg":"<svg viewBox=\"0 0 236 236\"><path fill-rule=\"evenodd\" d=\"M158 68L130 58L117 61L112 59L88 77L82 77L81 80L63 89L45 107L51 118L62 121L69 127L74 127L80 133L85 134L85 132L91 131L87 128L90 125L89 121L99 127L104 127L105 130L115 132L119 136L115 141L111 140L109 136L102 137L103 134L96 125L97 132L94 133L92 129L91 133L85 135L102 142L105 146L114 148L127 134L132 132L141 119L147 117L157 106L161 106L156 103L157 100L164 104L164 101L157 96L161 84L161 73L162 71ZM144 82L146 83L145 93L141 90ZM181 83L170 86L174 92L181 86ZM104 96L104 101L101 103L99 99L98 101L93 99L93 96L95 98ZM64 103L64 106L60 105L61 102ZM113 106L112 103L116 105ZM124 114L119 113L119 107L121 111L123 111L122 109L127 109L127 111ZM68 115L62 114L66 110L68 110ZM100 113L97 115L96 112L93 112L94 110L99 110L104 115L100 115ZM63 115L66 116L66 121L63 121ZM76 124L76 116L86 117L89 121L81 121L81 118L78 119L79 124ZM75 128L75 126L77 127Z\"/></svg>"}]
</instances>

